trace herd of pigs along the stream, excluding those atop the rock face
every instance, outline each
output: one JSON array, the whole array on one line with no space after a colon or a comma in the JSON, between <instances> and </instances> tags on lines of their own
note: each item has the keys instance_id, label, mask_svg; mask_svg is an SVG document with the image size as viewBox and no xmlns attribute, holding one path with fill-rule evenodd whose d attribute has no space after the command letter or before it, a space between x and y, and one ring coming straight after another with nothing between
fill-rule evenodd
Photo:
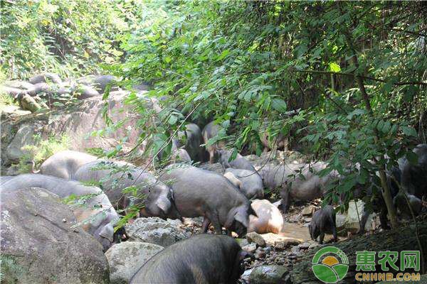
<instances>
[{"instance_id":1,"label":"herd of pigs along the stream, excluding those atop the rock face","mask_svg":"<svg viewBox=\"0 0 427 284\"><path fill-rule=\"evenodd\" d=\"M236 283L243 273L243 259L251 254L241 249L231 232L244 236L248 231L278 234L283 229L278 207L263 199L264 188L280 190L281 209L287 212L292 200L323 197L331 182L339 182L339 175L334 171L318 175L327 167L323 162L263 165L255 169L242 155L232 160L231 152L221 143L206 146L206 151L210 163L221 163L223 175L191 164L204 160L205 149L201 145L209 145L208 140L218 131L220 128L214 123L203 131L196 124L187 124L186 131L179 133L186 137L185 143L172 141L175 163L164 167L158 176L130 163L61 151L48 158L37 173L1 177L1 190L41 187L61 198L77 197L77 203L83 206L73 205L75 217L105 251L127 238L124 229L115 231L115 226L121 215L132 210L141 217L204 217L201 235L157 253L139 268L131 283ZM420 212L422 206L418 205L422 205L427 189L427 145L417 146L414 153L418 163L403 159L388 178L391 186L400 182L408 192L411 209ZM367 190L357 198L363 195L374 193ZM381 195L376 197L381 199ZM394 190L396 206L407 212L405 204L399 205L399 198ZM384 201L379 204L379 210L384 211ZM204 234L210 225L216 234ZM223 229L228 236L223 235ZM314 212L309 231L312 239L320 237L320 243L325 233L336 240L334 207L327 205Z\"/></svg>"}]
</instances>

